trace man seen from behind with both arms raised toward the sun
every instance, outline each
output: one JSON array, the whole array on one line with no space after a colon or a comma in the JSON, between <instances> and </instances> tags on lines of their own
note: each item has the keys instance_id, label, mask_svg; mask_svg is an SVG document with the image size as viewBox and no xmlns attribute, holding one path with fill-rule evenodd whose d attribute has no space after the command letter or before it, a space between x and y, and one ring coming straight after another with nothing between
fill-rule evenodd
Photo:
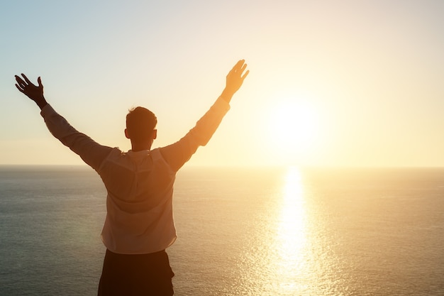
<instances>
[{"instance_id":1,"label":"man seen from behind with both arms raised toward the sun","mask_svg":"<svg viewBox=\"0 0 444 296\"><path fill-rule=\"evenodd\" d=\"M50 133L99 173L107 190L106 219L101 233L106 246L98 295L173 295L165 249L174 243L172 215L174 177L199 146L205 146L230 108L233 94L248 75L244 60L226 77L226 87L209 111L176 143L151 150L157 119L137 107L126 117L131 150L101 146L79 133L46 102L43 84L16 75L16 87L41 109Z\"/></svg>"}]
</instances>

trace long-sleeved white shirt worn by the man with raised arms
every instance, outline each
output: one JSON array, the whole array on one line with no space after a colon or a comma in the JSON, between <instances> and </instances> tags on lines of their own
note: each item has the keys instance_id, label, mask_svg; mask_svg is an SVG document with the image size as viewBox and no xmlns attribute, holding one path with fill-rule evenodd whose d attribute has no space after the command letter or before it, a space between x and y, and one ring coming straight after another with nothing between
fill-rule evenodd
<instances>
[{"instance_id":1,"label":"long-sleeved white shirt worn by the man with raised arms","mask_svg":"<svg viewBox=\"0 0 444 296\"><path fill-rule=\"evenodd\" d=\"M101 238L106 248L114 253L143 254L165 250L174 243L176 172L199 146L208 143L229 109L219 97L176 143L127 153L79 133L50 105L43 107L41 115L52 135L94 168L104 182L107 213Z\"/></svg>"}]
</instances>

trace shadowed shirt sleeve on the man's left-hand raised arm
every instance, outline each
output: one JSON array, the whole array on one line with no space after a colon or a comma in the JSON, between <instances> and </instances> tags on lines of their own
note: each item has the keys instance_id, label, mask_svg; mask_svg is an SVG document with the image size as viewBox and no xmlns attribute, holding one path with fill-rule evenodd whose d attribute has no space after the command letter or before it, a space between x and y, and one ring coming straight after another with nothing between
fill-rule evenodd
<instances>
[{"instance_id":1,"label":"shadowed shirt sleeve on the man's left-hand raised arm","mask_svg":"<svg viewBox=\"0 0 444 296\"><path fill-rule=\"evenodd\" d=\"M102 161L111 152L111 147L102 146L89 136L77 131L49 104L43 107L40 114L52 136L79 155L91 168L99 169Z\"/></svg>"}]
</instances>

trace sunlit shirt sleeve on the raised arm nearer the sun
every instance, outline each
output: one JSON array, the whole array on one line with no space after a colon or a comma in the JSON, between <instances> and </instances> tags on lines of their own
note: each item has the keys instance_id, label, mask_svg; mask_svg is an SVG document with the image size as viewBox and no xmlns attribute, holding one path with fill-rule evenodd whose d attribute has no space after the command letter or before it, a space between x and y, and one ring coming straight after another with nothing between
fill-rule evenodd
<instances>
[{"instance_id":1,"label":"sunlit shirt sleeve on the raised arm nearer the sun","mask_svg":"<svg viewBox=\"0 0 444 296\"><path fill-rule=\"evenodd\" d=\"M183 138L176 143L160 148L160 153L172 170L182 168L199 146L205 146L218 128L223 116L230 109L230 105L222 97L219 97L209 111L197 121Z\"/></svg>"}]
</instances>

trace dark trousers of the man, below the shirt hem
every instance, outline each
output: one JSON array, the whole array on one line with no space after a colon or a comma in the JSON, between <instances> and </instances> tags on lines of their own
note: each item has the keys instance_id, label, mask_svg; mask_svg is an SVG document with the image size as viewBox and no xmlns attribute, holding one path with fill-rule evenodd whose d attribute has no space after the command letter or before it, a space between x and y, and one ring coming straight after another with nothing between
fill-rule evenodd
<instances>
[{"instance_id":1,"label":"dark trousers of the man, below the shirt hem","mask_svg":"<svg viewBox=\"0 0 444 296\"><path fill-rule=\"evenodd\" d=\"M172 277L167 252L126 255L106 250L99 296L171 296Z\"/></svg>"}]
</instances>

